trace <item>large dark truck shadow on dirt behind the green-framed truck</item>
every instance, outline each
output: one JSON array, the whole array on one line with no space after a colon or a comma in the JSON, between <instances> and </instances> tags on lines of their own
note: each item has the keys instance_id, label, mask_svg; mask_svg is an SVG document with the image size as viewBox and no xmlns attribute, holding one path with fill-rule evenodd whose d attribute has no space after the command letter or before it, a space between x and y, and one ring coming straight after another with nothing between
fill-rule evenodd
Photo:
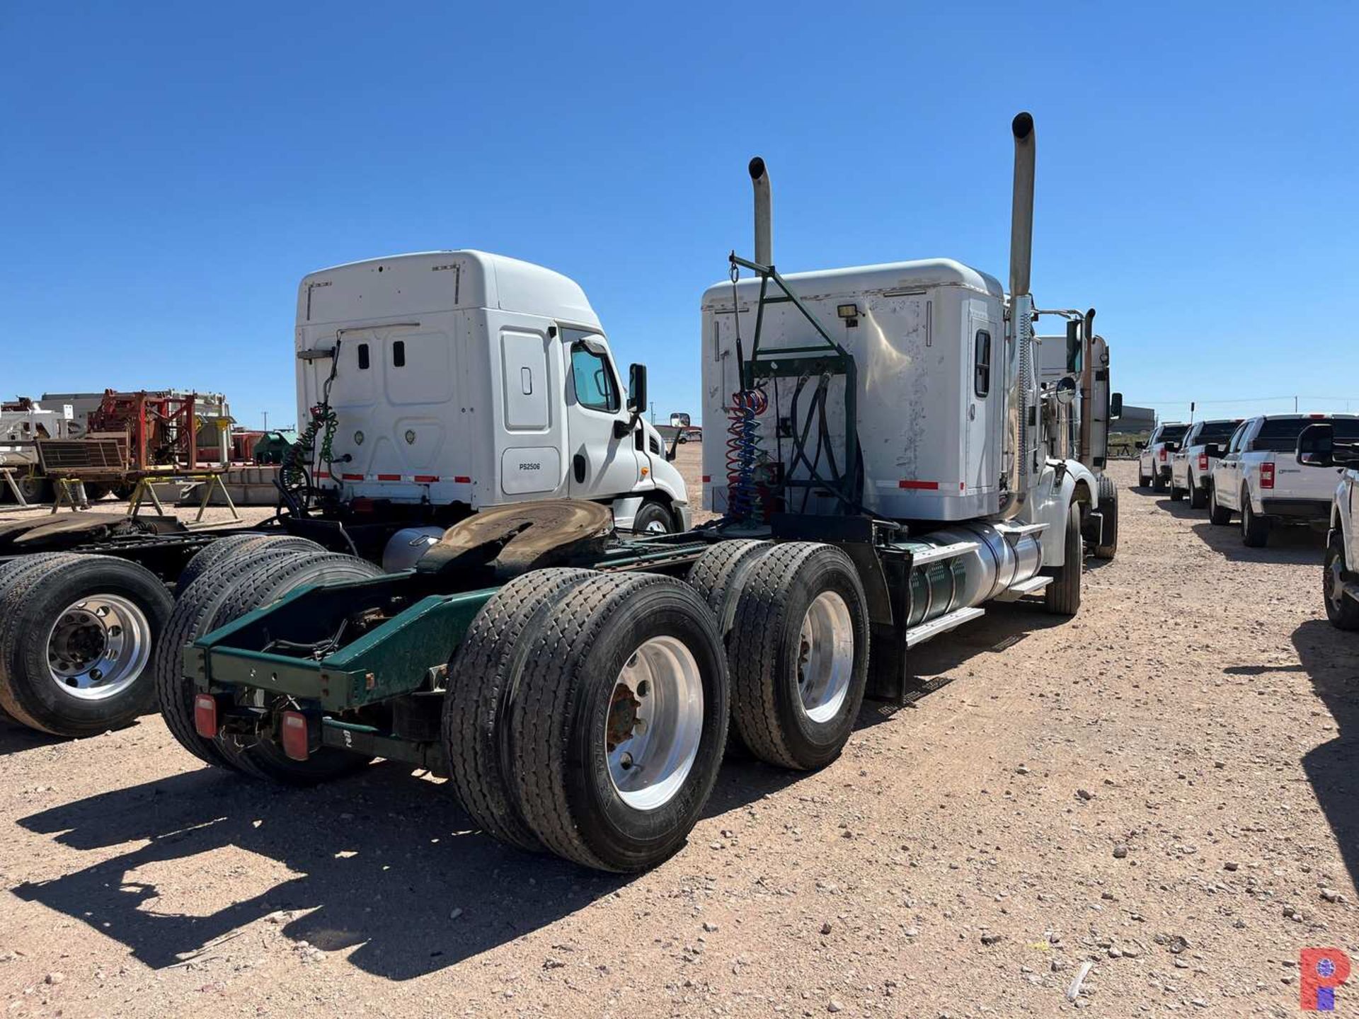
<instances>
[{"instance_id":1,"label":"large dark truck shadow on dirt behind the green-framed truck","mask_svg":"<svg viewBox=\"0 0 1359 1019\"><path fill-rule=\"evenodd\" d=\"M868 709L863 717L881 720ZM705 817L799 777L734 759ZM186 772L20 819L99 861L11 891L90 924L154 969L284 910L276 929L292 942L352 948L352 965L409 980L587 909L631 880L500 845L472 830L442 785L394 764L314 789ZM171 861L188 876L158 887ZM281 882L279 864L291 875ZM686 883L684 851L665 867ZM183 912L190 891L198 914Z\"/></svg>"}]
</instances>

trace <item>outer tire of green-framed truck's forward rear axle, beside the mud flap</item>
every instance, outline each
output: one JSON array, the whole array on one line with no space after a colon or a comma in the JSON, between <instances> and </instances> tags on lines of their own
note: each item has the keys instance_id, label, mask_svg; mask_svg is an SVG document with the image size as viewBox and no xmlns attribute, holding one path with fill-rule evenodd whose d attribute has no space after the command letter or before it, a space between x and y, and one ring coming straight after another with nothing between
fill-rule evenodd
<instances>
[{"instance_id":1,"label":"outer tire of green-framed truck's forward rear axle, beside the mud flap","mask_svg":"<svg viewBox=\"0 0 1359 1019\"><path fill-rule=\"evenodd\" d=\"M844 750L868 677L868 611L849 557L787 542L760 557L727 640L731 717L761 761L811 770Z\"/></svg>"}]
</instances>

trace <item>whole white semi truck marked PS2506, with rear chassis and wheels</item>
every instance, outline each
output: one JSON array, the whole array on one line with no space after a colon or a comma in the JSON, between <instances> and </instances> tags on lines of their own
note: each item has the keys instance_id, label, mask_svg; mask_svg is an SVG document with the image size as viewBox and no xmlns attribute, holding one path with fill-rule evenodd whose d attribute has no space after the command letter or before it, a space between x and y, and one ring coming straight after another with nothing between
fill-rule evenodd
<instances>
[{"instance_id":1,"label":"whole white semi truck marked PS2506, with rear chassis and wheels","mask_svg":"<svg viewBox=\"0 0 1359 1019\"><path fill-rule=\"evenodd\" d=\"M219 587L242 557L353 553L303 564L291 586L367 576L368 562L400 571L458 520L563 497L599 504L621 531L689 526L684 478L641 417L646 370L625 391L590 302L560 273L482 251L325 269L299 287L295 351L307 424L276 524L0 524L0 716L82 736L154 711L167 587Z\"/></svg>"}]
</instances>

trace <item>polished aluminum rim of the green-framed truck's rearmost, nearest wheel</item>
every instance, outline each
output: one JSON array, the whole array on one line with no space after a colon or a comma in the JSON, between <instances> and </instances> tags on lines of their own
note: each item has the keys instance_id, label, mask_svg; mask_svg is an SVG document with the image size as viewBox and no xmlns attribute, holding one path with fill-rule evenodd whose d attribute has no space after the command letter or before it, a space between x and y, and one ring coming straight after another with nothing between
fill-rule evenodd
<instances>
[{"instance_id":1,"label":"polished aluminum rim of the green-framed truck's rearmost, nearest wheel","mask_svg":"<svg viewBox=\"0 0 1359 1019\"><path fill-rule=\"evenodd\" d=\"M609 780L633 810L656 810L680 792L703 739L703 678L684 641L652 637L614 681L605 719Z\"/></svg>"}]
</instances>

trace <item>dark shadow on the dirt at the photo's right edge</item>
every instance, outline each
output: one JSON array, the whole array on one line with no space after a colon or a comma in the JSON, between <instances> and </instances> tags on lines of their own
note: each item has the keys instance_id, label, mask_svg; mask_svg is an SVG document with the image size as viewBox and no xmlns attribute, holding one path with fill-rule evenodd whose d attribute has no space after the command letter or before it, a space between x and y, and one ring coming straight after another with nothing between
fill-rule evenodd
<instances>
[{"instance_id":1,"label":"dark shadow on the dirt at the photo's right edge","mask_svg":"<svg viewBox=\"0 0 1359 1019\"><path fill-rule=\"evenodd\" d=\"M1320 596L1318 596L1320 601ZM1309 750L1302 768L1336 836L1349 879L1359 884L1359 634L1326 620L1309 620L1292 633L1302 668L1336 721L1335 736ZM1299 717L1306 727L1310 716Z\"/></svg>"}]
</instances>

